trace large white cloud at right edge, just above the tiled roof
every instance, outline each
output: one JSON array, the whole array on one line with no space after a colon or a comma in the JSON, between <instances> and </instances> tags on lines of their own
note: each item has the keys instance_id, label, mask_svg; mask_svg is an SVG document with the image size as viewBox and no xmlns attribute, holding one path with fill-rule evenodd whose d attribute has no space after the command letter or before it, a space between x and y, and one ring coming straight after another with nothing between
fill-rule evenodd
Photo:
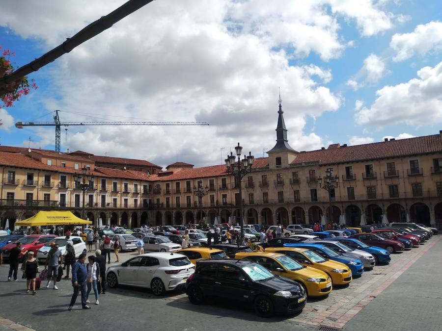
<instances>
[{"instance_id":1,"label":"large white cloud at right edge, just above the tiled roof","mask_svg":"<svg viewBox=\"0 0 442 331\"><path fill-rule=\"evenodd\" d=\"M442 122L442 62L424 67L417 78L376 91L370 107L356 113L359 124L411 126Z\"/></svg>"}]
</instances>

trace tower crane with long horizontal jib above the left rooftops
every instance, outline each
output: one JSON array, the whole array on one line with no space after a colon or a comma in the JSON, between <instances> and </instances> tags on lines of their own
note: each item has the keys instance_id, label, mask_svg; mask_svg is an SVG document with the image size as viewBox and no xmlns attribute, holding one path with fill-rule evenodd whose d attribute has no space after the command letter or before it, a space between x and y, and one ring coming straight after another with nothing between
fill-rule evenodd
<instances>
[{"instance_id":1,"label":"tower crane with long horizontal jib above the left rooftops","mask_svg":"<svg viewBox=\"0 0 442 331\"><path fill-rule=\"evenodd\" d=\"M209 125L207 122L60 122L58 111L55 110L54 122L17 122L15 127L55 127L55 152L60 153L61 147L61 126L102 126L102 125L149 125L149 126L204 126Z\"/></svg>"}]
</instances>

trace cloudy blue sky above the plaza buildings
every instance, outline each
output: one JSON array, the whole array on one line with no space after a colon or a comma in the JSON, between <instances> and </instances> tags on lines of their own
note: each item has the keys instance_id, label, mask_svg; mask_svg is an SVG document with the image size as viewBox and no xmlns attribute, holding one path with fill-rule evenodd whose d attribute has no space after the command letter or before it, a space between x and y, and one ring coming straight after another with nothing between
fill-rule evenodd
<instances>
[{"instance_id":1,"label":"cloudy blue sky above the plaza buildings","mask_svg":"<svg viewBox=\"0 0 442 331\"><path fill-rule=\"evenodd\" d=\"M124 2L5 1L0 46L24 65ZM210 123L62 127L62 151L205 166L240 142L267 156L279 90L297 151L436 134L441 17L433 0L156 0L29 75L39 88L0 109L0 143L53 149L55 127L14 124L58 109L66 122Z\"/></svg>"}]
</instances>

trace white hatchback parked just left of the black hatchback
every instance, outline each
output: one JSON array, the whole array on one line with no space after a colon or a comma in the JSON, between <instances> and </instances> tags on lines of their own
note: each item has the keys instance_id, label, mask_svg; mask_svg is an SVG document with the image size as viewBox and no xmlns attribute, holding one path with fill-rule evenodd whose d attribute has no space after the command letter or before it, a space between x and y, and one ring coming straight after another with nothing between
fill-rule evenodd
<instances>
[{"instance_id":1,"label":"white hatchback parked just left of the black hatchback","mask_svg":"<svg viewBox=\"0 0 442 331\"><path fill-rule=\"evenodd\" d=\"M186 286L195 271L187 256L177 253L147 253L108 268L109 287L118 284L146 287L155 295Z\"/></svg>"}]
</instances>

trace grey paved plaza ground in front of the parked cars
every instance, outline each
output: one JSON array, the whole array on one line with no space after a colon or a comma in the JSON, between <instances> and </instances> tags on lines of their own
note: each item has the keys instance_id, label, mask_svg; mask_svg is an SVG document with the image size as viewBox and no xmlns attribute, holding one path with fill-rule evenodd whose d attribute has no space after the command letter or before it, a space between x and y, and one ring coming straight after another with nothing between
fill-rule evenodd
<instances>
[{"instance_id":1,"label":"grey paved plaza ground in front of the parked cars","mask_svg":"<svg viewBox=\"0 0 442 331\"><path fill-rule=\"evenodd\" d=\"M189 303L183 292L155 297L149 290L110 289L100 306L82 310L80 299L68 311L70 280L59 290L43 288L36 296L25 293L26 283L7 282L7 267L0 267L0 331L60 330L317 330L328 326L343 330L440 330L442 325L442 238L434 236L413 250L393 254L389 265L376 266L322 300L308 300L296 316L257 317L250 307L213 300L203 306ZM122 260L135 255L124 253ZM45 284L43 284L44 287ZM94 300L91 300L94 302ZM65 329L65 328L63 328Z\"/></svg>"}]
</instances>

